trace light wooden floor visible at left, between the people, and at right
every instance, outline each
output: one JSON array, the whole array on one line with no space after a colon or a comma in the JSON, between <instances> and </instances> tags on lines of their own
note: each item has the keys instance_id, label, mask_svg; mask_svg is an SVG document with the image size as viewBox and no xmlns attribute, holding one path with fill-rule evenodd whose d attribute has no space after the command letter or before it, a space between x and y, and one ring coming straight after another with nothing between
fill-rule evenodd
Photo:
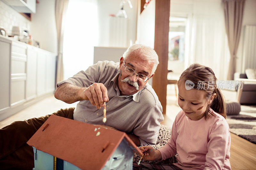
<instances>
[{"instance_id":1,"label":"light wooden floor visible at left, between the people, and at right","mask_svg":"<svg viewBox=\"0 0 256 170\"><path fill-rule=\"evenodd\" d=\"M52 95L0 122L0 128L3 128L14 121L40 117L53 113L60 108L75 106L76 103L67 104L55 99ZM169 110L167 112L169 115L164 115L164 121L161 122L161 124L172 127L173 120L176 116L174 112L177 114L179 109L180 108L175 105L175 102L171 104L169 103L166 108L167 111ZM252 144L251 142L231 133L230 164L233 170L256 169L256 144Z\"/></svg>"}]
</instances>

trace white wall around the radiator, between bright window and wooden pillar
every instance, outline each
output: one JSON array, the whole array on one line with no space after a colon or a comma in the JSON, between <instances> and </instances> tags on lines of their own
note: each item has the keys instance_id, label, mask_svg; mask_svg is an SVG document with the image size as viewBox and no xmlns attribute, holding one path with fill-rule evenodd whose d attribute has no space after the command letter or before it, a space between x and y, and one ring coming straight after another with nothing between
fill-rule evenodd
<instances>
[{"instance_id":1,"label":"white wall around the radiator, between bright window and wooden pillar","mask_svg":"<svg viewBox=\"0 0 256 170\"><path fill-rule=\"evenodd\" d=\"M118 12L121 0L98 0L98 17L99 17L99 45L109 46L109 15ZM131 0L132 8L128 4L124 5L128 18L128 40L132 43L136 41L137 32L137 5L138 0Z\"/></svg>"}]
</instances>

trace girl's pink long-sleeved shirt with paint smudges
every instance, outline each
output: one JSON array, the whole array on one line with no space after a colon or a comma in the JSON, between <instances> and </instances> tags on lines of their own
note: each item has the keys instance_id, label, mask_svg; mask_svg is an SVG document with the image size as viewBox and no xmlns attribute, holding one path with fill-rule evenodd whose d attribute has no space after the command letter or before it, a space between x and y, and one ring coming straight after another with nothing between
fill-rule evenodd
<instances>
[{"instance_id":1,"label":"girl's pink long-sleeved shirt with paint smudges","mask_svg":"<svg viewBox=\"0 0 256 170\"><path fill-rule=\"evenodd\" d=\"M231 169L230 133L226 119L215 113L207 120L190 120L181 110L176 116L171 138L158 149L162 160L178 153L175 166L181 169Z\"/></svg>"}]
</instances>

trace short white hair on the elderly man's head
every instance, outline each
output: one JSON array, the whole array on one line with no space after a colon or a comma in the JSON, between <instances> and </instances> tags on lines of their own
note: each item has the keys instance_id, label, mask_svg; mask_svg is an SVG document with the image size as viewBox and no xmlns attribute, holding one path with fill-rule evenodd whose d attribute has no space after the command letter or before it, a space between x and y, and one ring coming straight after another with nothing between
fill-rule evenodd
<instances>
[{"instance_id":1,"label":"short white hair on the elderly man's head","mask_svg":"<svg viewBox=\"0 0 256 170\"><path fill-rule=\"evenodd\" d=\"M124 52L123 54L124 60L130 55L134 55L134 54L141 57L142 60L149 60L152 63L154 63L151 74L153 74L156 71L156 67L159 64L159 61L158 61L158 55L156 54L156 51L154 49L141 44L133 44Z\"/></svg>"}]
</instances>

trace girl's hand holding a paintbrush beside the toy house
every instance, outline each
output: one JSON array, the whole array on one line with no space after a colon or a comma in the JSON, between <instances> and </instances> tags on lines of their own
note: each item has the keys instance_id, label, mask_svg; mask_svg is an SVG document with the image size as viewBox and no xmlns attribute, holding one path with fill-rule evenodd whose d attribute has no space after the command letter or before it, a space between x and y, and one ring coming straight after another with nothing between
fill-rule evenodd
<instances>
[{"instance_id":1,"label":"girl's hand holding a paintbrush beside the toy house","mask_svg":"<svg viewBox=\"0 0 256 170\"><path fill-rule=\"evenodd\" d=\"M162 155L159 151L155 151L152 146L140 146L140 150L143 151L144 160L160 160ZM140 155L142 156L142 155Z\"/></svg>"}]
</instances>

